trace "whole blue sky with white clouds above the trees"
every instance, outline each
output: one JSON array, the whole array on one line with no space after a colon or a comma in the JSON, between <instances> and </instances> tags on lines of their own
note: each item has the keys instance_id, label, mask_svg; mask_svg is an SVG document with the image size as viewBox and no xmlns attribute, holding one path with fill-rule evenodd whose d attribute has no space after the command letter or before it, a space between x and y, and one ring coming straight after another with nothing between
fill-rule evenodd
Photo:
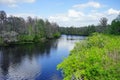
<instances>
[{"instance_id":1,"label":"whole blue sky with white clouds above the trees","mask_svg":"<svg viewBox=\"0 0 120 80\"><path fill-rule=\"evenodd\" d=\"M110 24L120 13L120 0L0 0L7 16L38 17L64 27L98 25L102 17Z\"/></svg>"}]
</instances>

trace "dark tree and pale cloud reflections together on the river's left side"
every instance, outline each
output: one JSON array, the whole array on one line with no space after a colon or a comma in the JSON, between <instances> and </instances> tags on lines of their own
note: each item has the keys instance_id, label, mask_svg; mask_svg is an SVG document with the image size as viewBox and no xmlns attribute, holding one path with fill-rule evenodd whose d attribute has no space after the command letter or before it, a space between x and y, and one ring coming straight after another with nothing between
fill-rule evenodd
<instances>
[{"instance_id":1,"label":"dark tree and pale cloud reflections together on the river's left side","mask_svg":"<svg viewBox=\"0 0 120 80\"><path fill-rule=\"evenodd\" d=\"M57 49L57 40L46 43L27 44L0 48L0 80L31 79L40 71L36 62L38 56L48 56ZM30 74L29 74L30 73ZM32 76L31 76L32 75Z\"/></svg>"}]
</instances>

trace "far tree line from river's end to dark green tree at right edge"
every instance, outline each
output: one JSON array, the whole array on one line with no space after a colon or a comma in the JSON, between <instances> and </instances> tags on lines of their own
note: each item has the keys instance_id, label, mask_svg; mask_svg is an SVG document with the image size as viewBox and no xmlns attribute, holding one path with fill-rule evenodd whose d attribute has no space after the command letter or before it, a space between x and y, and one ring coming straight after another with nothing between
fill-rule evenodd
<instances>
[{"instance_id":1,"label":"far tree line from river's end to dark green tree at right edge","mask_svg":"<svg viewBox=\"0 0 120 80\"><path fill-rule=\"evenodd\" d=\"M102 17L99 25L60 27L60 32L67 35L82 36L89 36L94 32L120 35L120 14L111 22L111 25L107 24L107 21L108 19L106 17Z\"/></svg>"}]
</instances>

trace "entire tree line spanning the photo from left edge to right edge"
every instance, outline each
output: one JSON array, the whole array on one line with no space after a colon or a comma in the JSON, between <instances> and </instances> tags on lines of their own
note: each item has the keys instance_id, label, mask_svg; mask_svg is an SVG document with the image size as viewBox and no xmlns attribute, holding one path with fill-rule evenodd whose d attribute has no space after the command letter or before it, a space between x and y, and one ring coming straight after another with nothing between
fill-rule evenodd
<instances>
[{"instance_id":1,"label":"entire tree line spanning the photo from left edge to right edge","mask_svg":"<svg viewBox=\"0 0 120 80\"><path fill-rule=\"evenodd\" d=\"M58 38L61 34L88 36L94 32L120 34L120 14L107 24L108 19L102 17L99 25L84 27L59 27L56 23L39 18L9 16L0 11L0 45L8 43L38 42Z\"/></svg>"}]
</instances>

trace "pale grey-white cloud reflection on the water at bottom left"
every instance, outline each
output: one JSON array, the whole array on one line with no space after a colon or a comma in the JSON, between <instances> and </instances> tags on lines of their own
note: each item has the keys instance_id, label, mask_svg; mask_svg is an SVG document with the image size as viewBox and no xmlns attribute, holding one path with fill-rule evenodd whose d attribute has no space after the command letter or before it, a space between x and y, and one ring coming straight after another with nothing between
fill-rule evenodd
<instances>
[{"instance_id":1,"label":"pale grey-white cloud reflection on the water at bottom left","mask_svg":"<svg viewBox=\"0 0 120 80\"><path fill-rule=\"evenodd\" d=\"M8 80L34 80L40 71L40 66L35 59L25 58L20 66L9 67Z\"/></svg>"}]
</instances>

